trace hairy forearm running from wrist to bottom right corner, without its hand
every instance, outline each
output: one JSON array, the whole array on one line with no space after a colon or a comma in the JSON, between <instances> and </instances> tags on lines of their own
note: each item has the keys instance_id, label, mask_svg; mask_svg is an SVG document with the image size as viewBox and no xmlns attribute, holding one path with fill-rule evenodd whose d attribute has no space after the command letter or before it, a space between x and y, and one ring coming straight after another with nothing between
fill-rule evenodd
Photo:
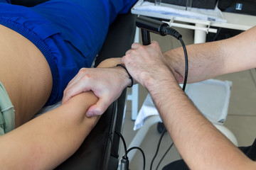
<instances>
[{"instance_id":1,"label":"hairy forearm running from wrist to bottom right corner, without its hand","mask_svg":"<svg viewBox=\"0 0 256 170\"><path fill-rule=\"evenodd\" d=\"M255 169L255 162L199 113L171 72L148 80L146 88L190 169Z\"/></svg>"}]
</instances>

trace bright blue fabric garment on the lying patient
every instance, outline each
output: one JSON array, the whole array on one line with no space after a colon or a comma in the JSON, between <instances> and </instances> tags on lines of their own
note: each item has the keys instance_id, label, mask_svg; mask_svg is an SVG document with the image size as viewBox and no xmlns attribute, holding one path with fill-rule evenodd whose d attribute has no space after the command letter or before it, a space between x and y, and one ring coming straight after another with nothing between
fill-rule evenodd
<instances>
[{"instance_id":1,"label":"bright blue fabric garment on the lying patient","mask_svg":"<svg viewBox=\"0 0 256 170\"><path fill-rule=\"evenodd\" d=\"M0 24L33 42L48 61L53 90L46 105L63 97L82 67L91 67L118 13L137 0L50 0L33 7L0 0Z\"/></svg>"}]
</instances>

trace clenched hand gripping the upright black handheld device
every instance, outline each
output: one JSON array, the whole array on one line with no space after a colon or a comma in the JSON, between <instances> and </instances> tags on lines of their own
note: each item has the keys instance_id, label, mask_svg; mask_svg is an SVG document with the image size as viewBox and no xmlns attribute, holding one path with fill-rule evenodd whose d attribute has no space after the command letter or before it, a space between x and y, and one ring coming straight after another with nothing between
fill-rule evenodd
<instances>
[{"instance_id":1,"label":"clenched hand gripping the upright black handheld device","mask_svg":"<svg viewBox=\"0 0 256 170\"><path fill-rule=\"evenodd\" d=\"M132 77L146 88L151 80L183 79L172 67L168 66L156 41L146 46L139 43L132 44L132 49L126 52L121 62L127 67ZM166 77L168 72L171 77Z\"/></svg>"}]
</instances>

